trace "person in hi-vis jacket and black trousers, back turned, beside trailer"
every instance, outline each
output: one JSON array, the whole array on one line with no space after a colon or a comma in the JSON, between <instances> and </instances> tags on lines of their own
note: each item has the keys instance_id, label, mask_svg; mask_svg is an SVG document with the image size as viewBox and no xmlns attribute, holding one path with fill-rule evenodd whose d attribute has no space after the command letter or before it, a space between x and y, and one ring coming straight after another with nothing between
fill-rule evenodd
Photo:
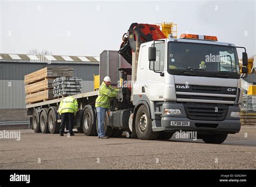
<instances>
[{"instance_id":1,"label":"person in hi-vis jacket and black trousers, back turned, beside trailer","mask_svg":"<svg viewBox=\"0 0 256 187\"><path fill-rule=\"evenodd\" d=\"M72 96L68 96L60 102L59 105L59 114L62 119L60 124L59 135L63 136L65 125L68 126L69 134L73 134L73 120L76 117L78 110L77 99L74 99Z\"/></svg>"}]
</instances>

